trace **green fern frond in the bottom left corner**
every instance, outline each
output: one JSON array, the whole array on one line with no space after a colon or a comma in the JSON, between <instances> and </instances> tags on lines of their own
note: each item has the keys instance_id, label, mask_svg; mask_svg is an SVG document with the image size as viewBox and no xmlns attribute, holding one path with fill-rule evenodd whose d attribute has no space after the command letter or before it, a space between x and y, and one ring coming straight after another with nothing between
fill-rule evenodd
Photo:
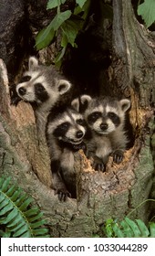
<instances>
[{"instance_id":1,"label":"green fern frond in the bottom left corner","mask_svg":"<svg viewBox=\"0 0 155 256\"><path fill-rule=\"evenodd\" d=\"M48 237L39 208L21 188L10 185L10 177L0 178L0 236L14 238Z\"/></svg>"}]
</instances>

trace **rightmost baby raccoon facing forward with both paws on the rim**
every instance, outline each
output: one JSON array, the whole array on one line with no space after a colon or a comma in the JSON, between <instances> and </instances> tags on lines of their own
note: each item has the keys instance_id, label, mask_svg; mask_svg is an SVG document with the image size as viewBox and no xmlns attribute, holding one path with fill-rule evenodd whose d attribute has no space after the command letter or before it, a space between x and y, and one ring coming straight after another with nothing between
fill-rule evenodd
<instances>
[{"instance_id":1,"label":"rightmost baby raccoon facing forward with both paws on the rim","mask_svg":"<svg viewBox=\"0 0 155 256\"><path fill-rule=\"evenodd\" d=\"M88 95L80 97L84 104L88 103L84 111L88 124L90 138L87 141L88 157L94 159L93 167L104 171L109 155L119 164L123 159L128 138L124 130L125 113L129 110L130 101L116 100L110 97L91 99ZM79 109L78 99L72 104Z\"/></svg>"}]
</instances>

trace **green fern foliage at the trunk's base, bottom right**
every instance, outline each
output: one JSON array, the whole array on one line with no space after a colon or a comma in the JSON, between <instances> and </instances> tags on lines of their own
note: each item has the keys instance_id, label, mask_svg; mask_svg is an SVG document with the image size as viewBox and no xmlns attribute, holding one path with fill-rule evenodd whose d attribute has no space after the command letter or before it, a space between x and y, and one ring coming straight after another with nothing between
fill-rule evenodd
<instances>
[{"instance_id":1,"label":"green fern foliage at the trunk's base, bottom right","mask_svg":"<svg viewBox=\"0 0 155 256\"><path fill-rule=\"evenodd\" d=\"M150 222L149 228L141 219L125 218L120 222L108 219L103 227L108 238L155 238L155 223Z\"/></svg>"}]
</instances>

